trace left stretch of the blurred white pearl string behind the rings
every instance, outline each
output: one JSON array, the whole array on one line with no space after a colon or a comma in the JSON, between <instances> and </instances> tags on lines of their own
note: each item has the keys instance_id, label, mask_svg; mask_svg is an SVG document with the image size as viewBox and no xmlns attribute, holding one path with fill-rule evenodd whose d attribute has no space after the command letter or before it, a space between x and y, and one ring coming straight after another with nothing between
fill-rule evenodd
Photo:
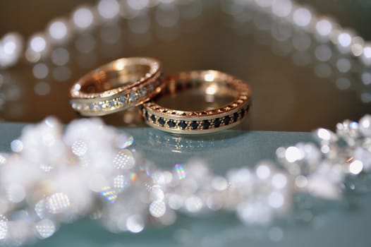
<instances>
[{"instance_id":1,"label":"left stretch of the blurred white pearl string behind the rings","mask_svg":"<svg viewBox=\"0 0 371 247\"><path fill-rule=\"evenodd\" d=\"M96 5L78 6L71 16L51 20L44 31L36 32L27 39L17 32L9 32L0 38L0 69L16 66L19 61L35 64L50 56L53 47L68 44L75 34L89 32L104 23L119 18L133 19L154 6L185 5L193 0L100 0ZM164 25L171 17L161 16ZM140 30L138 30L140 32Z\"/></svg>"}]
</instances>

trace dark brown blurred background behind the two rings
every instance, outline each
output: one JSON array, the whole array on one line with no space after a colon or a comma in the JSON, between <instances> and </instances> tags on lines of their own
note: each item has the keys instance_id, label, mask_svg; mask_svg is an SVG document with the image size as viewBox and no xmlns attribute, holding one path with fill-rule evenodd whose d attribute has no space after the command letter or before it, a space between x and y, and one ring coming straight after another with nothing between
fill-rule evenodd
<instances>
[{"instance_id":1,"label":"dark brown blurred background behind the two rings","mask_svg":"<svg viewBox=\"0 0 371 247\"><path fill-rule=\"evenodd\" d=\"M143 3L148 1L132 1ZM57 116L64 123L78 118L69 105L71 85L88 71L125 56L153 56L164 73L217 69L242 78L253 89L253 107L239 128L264 131L311 131L358 120L371 112L371 81L365 68L330 45L329 59L319 44L295 28L286 30L272 16L228 0L163 0L150 10L114 18L52 47L36 63L26 61L0 70L2 121L36 122ZM343 27L371 40L371 1L298 1ZM0 37L20 32L25 39L45 30L51 20L70 18L80 4L97 1L0 1ZM134 5L135 6L135 5ZM137 5L138 6L138 5ZM282 26L281 26L282 24ZM282 29L284 28L284 29ZM317 51L317 53L316 53ZM339 61L341 63L339 64ZM348 68L349 67L349 68ZM176 107L174 107L176 108ZM115 126L144 126L138 109L104 116Z\"/></svg>"}]
</instances>

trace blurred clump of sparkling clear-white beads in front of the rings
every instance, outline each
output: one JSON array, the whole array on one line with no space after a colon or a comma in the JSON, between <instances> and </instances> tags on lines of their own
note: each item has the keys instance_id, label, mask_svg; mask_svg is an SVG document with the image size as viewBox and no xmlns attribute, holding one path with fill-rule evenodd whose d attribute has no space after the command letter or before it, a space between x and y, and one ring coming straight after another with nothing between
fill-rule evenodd
<instances>
[{"instance_id":1,"label":"blurred clump of sparkling clear-white beads in front of the rings","mask_svg":"<svg viewBox=\"0 0 371 247\"><path fill-rule=\"evenodd\" d=\"M371 170L371 115L313 135L318 145L279 147L276 163L219 176L195 159L159 169L135 152L133 136L100 119L75 120L64 132L45 119L23 129L13 152L0 154L1 243L45 239L87 216L109 231L133 233L173 224L176 212L224 210L245 224L269 224L295 207L296 193L338 200L349 176Z\"/></svg>"}]
</instances>

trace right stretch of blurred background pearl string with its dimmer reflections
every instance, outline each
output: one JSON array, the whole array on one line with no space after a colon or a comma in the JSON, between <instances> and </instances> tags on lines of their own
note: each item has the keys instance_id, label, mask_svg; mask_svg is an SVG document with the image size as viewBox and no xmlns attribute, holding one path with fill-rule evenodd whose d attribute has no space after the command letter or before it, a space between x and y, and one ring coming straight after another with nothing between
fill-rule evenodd
<instances>
[{"instance_id":1,"label":"right stretch of blurred background pearl string with its dimmer reflections","mask_svg":"<svg viewBox=\"0 0 371 247\"><path fill-rule=\"evenodd\" d=\"M359 92L363 103L371 102L370 42L355 30L295 1L231 0L221 1L221 6L238 34L248 34L253 25L259 30L255 40L272 40L274 54L291 56L298 66L312 64L318 77L333 80L339 90Z\"/></svg>"}]
</instances>

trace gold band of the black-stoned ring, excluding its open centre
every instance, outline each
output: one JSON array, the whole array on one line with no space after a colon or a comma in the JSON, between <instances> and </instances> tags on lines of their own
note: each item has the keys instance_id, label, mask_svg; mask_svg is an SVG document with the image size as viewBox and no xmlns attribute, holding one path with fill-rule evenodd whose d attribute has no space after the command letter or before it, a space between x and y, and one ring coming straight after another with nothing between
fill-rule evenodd
<instances>
[{"instance_id":1,"label":"gold band of the black-stoned ring, excluding its open centre","mask_svg":"<svg viewBox=\"0 0 371 247\"><path fill-rule=\"evenodd\" d=\"M176 95L179 90L201 88L205 96L228 94L233 101L222 107L203 111L181 111L162 107L154 100L143 104L146 123L162 131L178 134L200 134L232 128L241 122L250 109L250 88L239 80L219 71L191 71L167 78L159 95Z\"/></svg>"}]
</instances>

